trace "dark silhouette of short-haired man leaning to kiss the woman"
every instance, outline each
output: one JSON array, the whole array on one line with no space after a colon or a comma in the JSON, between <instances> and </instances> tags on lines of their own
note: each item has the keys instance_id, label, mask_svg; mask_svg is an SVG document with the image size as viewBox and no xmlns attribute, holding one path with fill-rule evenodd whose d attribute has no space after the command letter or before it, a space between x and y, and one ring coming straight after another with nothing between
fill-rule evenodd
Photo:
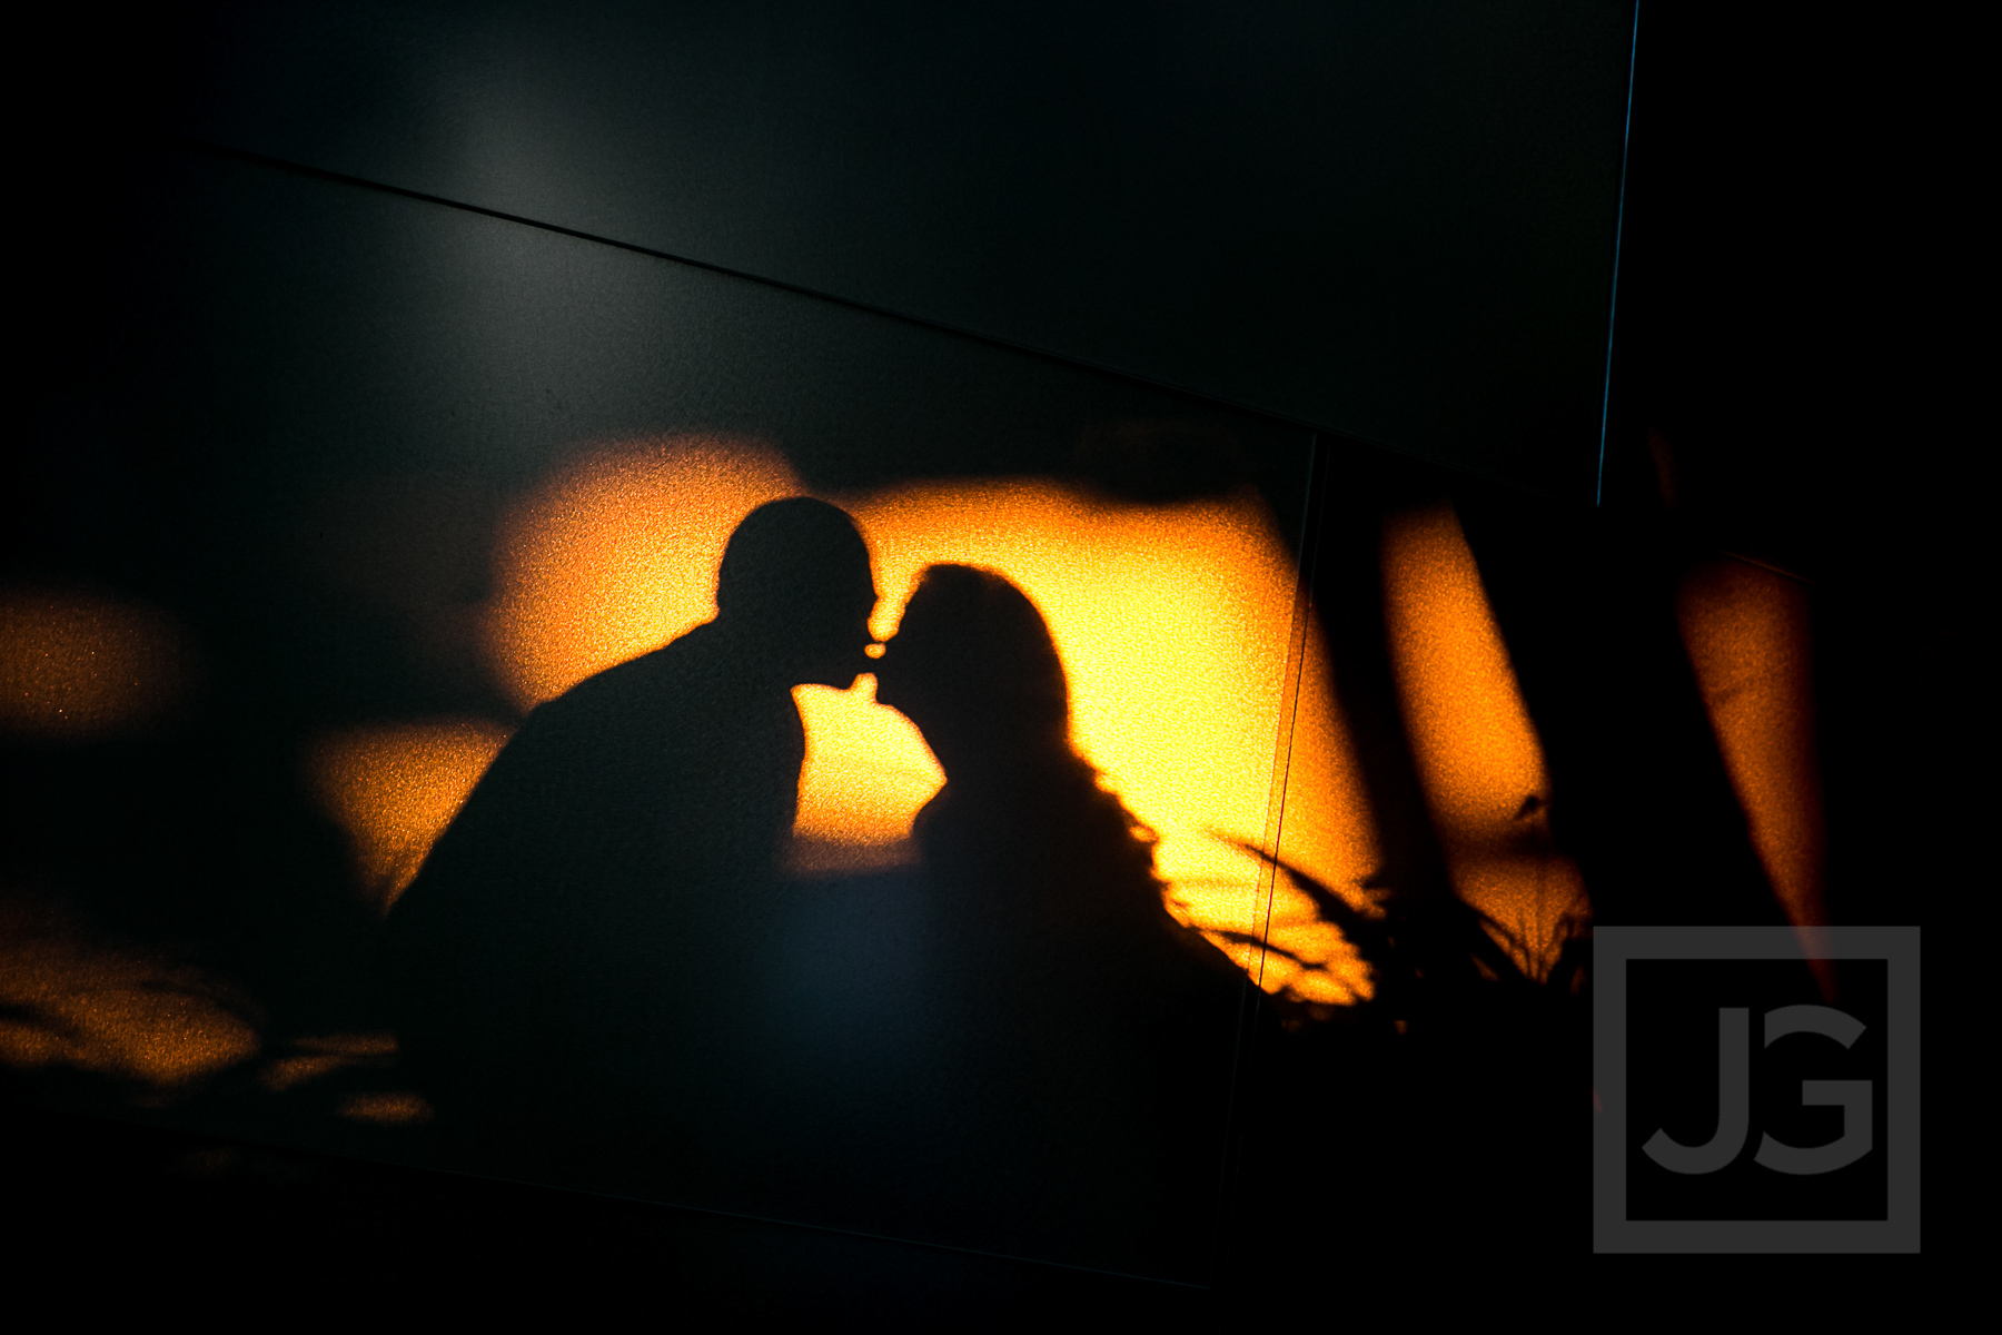
<instances>
[{"instance_id":1,"label":"dark silhouette of short-haired man leaning to kiss the woman","mask_svg":"<svg viewBox=\"0 0 2002 1335\"><path fill-rule=\"evenodd\" d=\"M715 620L529 717L388 923L444 1149L685 1163L741 1121L733 989L793 825L791 689L869 671L875 596L847 514L775 500L731 534Z\"/></svg>"}]
</instances>

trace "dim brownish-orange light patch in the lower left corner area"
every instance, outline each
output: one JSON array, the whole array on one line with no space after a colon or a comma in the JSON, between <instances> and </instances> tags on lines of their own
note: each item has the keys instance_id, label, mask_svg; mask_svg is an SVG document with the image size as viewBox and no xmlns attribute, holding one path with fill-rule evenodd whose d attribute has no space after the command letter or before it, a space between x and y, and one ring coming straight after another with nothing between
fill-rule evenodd
<instances>
[{"instance_id":1,"label":"dim brownish-orange light patch in the lower left corner area","mask_svg":"<svg viewBox=\"0 0 2002 1335\"><path fill-rule=\"evenodd\" d=\"M256 1057L200 971L0 903L0 1065L76 1067L172 1095Z\"/></svg>"}]
</instances>

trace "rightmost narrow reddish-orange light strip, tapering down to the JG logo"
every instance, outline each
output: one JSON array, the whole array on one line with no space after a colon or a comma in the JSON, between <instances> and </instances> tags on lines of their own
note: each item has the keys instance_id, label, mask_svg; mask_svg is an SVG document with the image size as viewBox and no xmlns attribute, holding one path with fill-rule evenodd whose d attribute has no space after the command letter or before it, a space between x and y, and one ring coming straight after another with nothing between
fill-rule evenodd
<instances>
[{"instance_id":1,"label":"rightmost narrow reddish-orange light strip, tapering down to the JG logo","mask_svg":"<svg viewBox=\"0 0 2002 1335\"><path fill-rule=\"evenodd\" d=\"M1712 560L1682 580L1676 612L1774 895L1794 927L1826 925L1808 592L1784 574Z\"/></svg>"}]
</instances>

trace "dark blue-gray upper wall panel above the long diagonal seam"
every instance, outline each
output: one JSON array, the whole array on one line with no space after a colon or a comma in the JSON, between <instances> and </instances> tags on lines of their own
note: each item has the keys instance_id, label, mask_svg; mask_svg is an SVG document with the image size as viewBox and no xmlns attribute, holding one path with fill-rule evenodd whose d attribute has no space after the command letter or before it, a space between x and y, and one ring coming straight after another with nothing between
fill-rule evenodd
<instances>
[{"instance_id":1,"label":"dark blue-gray upper wall panel above the long diagonal seam","mask_svg":"<svg viewBox=\"0 0 2002 1335\"><path fill-rule=\"evenodd\" d=\"M1564 496L1602 432L1634 6L340 4L174 130Z\"/></svg>"}]
</instances>

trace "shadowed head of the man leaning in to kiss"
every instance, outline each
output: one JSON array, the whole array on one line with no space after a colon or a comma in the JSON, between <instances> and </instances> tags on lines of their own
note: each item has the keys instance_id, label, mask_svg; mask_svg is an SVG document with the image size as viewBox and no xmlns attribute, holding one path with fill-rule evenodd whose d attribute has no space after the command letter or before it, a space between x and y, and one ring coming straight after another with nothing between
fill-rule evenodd
<instances>
[{"instance_id":1,"label":"shadowed head of the man leaning in to kiss","mask_svg":"<svg viewBox=\"0 0 2002 1335\"><path fill-rule=\"evenodd\" d=\"M717 572L717 620L743 634L789 687L839 687L871 671L875 576L845 510L791 496L737 524Z\"/></svg>"}]
</instances>

